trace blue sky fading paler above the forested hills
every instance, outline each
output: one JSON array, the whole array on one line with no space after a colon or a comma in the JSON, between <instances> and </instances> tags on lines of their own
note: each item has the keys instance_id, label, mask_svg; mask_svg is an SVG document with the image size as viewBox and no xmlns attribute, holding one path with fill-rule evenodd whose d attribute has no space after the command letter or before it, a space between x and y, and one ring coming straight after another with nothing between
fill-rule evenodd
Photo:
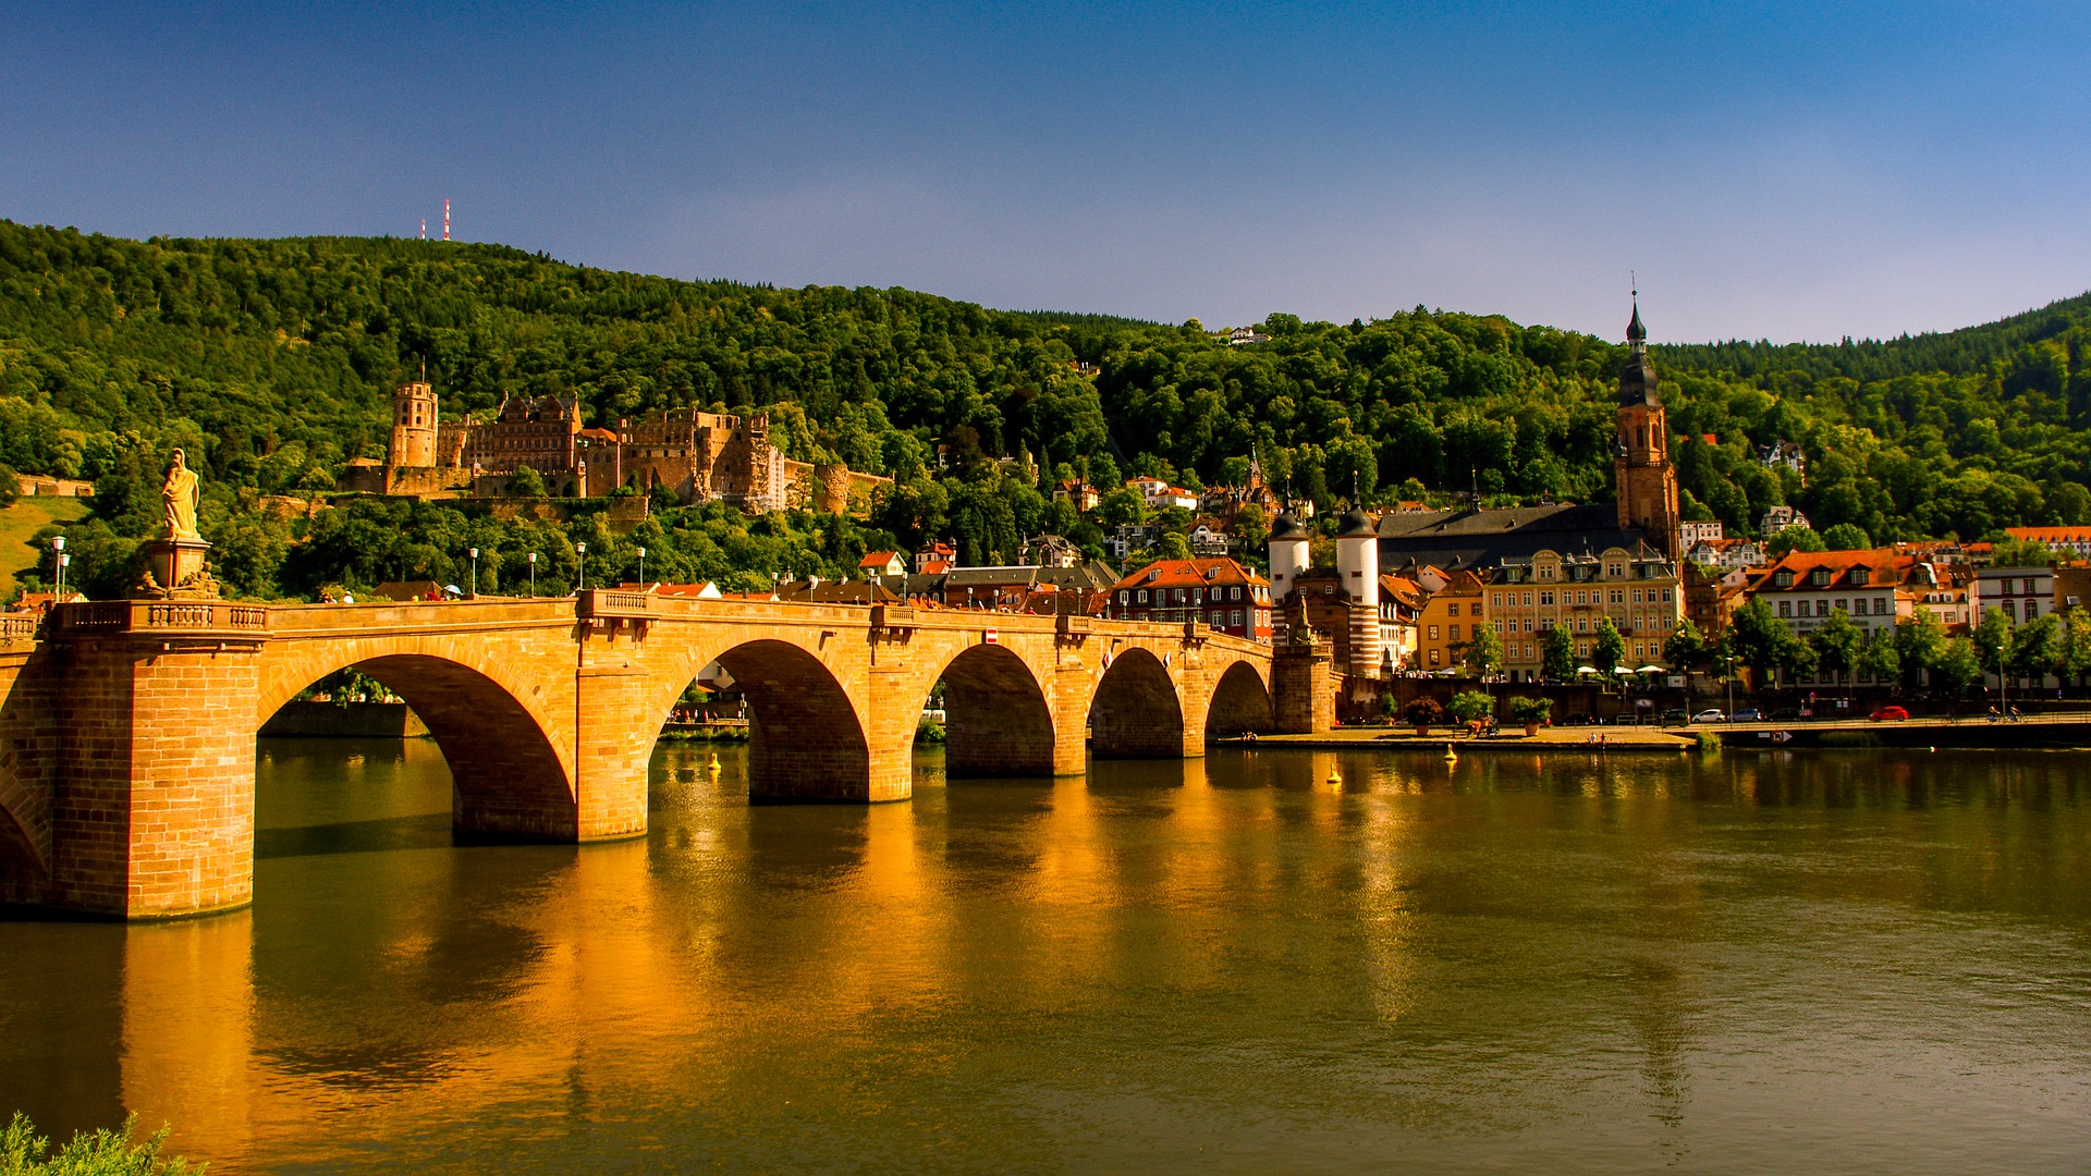
<instances>
[{"instance_id":1,"label":"blue sky fading paler above the forested hills","mask_svg":"<svg viewBox=\"0 0 2091 1176\"><path fill-rule=\"evenodd\" d=\"M1658 341L2091 289L2083 4L0 8L0 216ZM431 230L433 232L433 230Z\"/></svg>"}]
</instances>

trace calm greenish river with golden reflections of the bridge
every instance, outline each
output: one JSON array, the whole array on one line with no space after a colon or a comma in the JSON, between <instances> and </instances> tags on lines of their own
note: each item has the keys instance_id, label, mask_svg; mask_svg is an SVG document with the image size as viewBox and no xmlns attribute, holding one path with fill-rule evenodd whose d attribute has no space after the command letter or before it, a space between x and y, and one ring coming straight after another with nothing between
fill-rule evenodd
<instances>
[{"instance_id":1,"label":"calm greenish river with golden reflections of the bridge","mask_svg":"<svg viewBox=\"0 0 2091 1176\"><path fill-rule=\"evenodd\" d=\"M2081 753L709 755L644 839L452 845L433 743L261 741L249 910L0 923L0 1109L213 1172L2091 1168Z\"/></svg>"}]
</instances>

